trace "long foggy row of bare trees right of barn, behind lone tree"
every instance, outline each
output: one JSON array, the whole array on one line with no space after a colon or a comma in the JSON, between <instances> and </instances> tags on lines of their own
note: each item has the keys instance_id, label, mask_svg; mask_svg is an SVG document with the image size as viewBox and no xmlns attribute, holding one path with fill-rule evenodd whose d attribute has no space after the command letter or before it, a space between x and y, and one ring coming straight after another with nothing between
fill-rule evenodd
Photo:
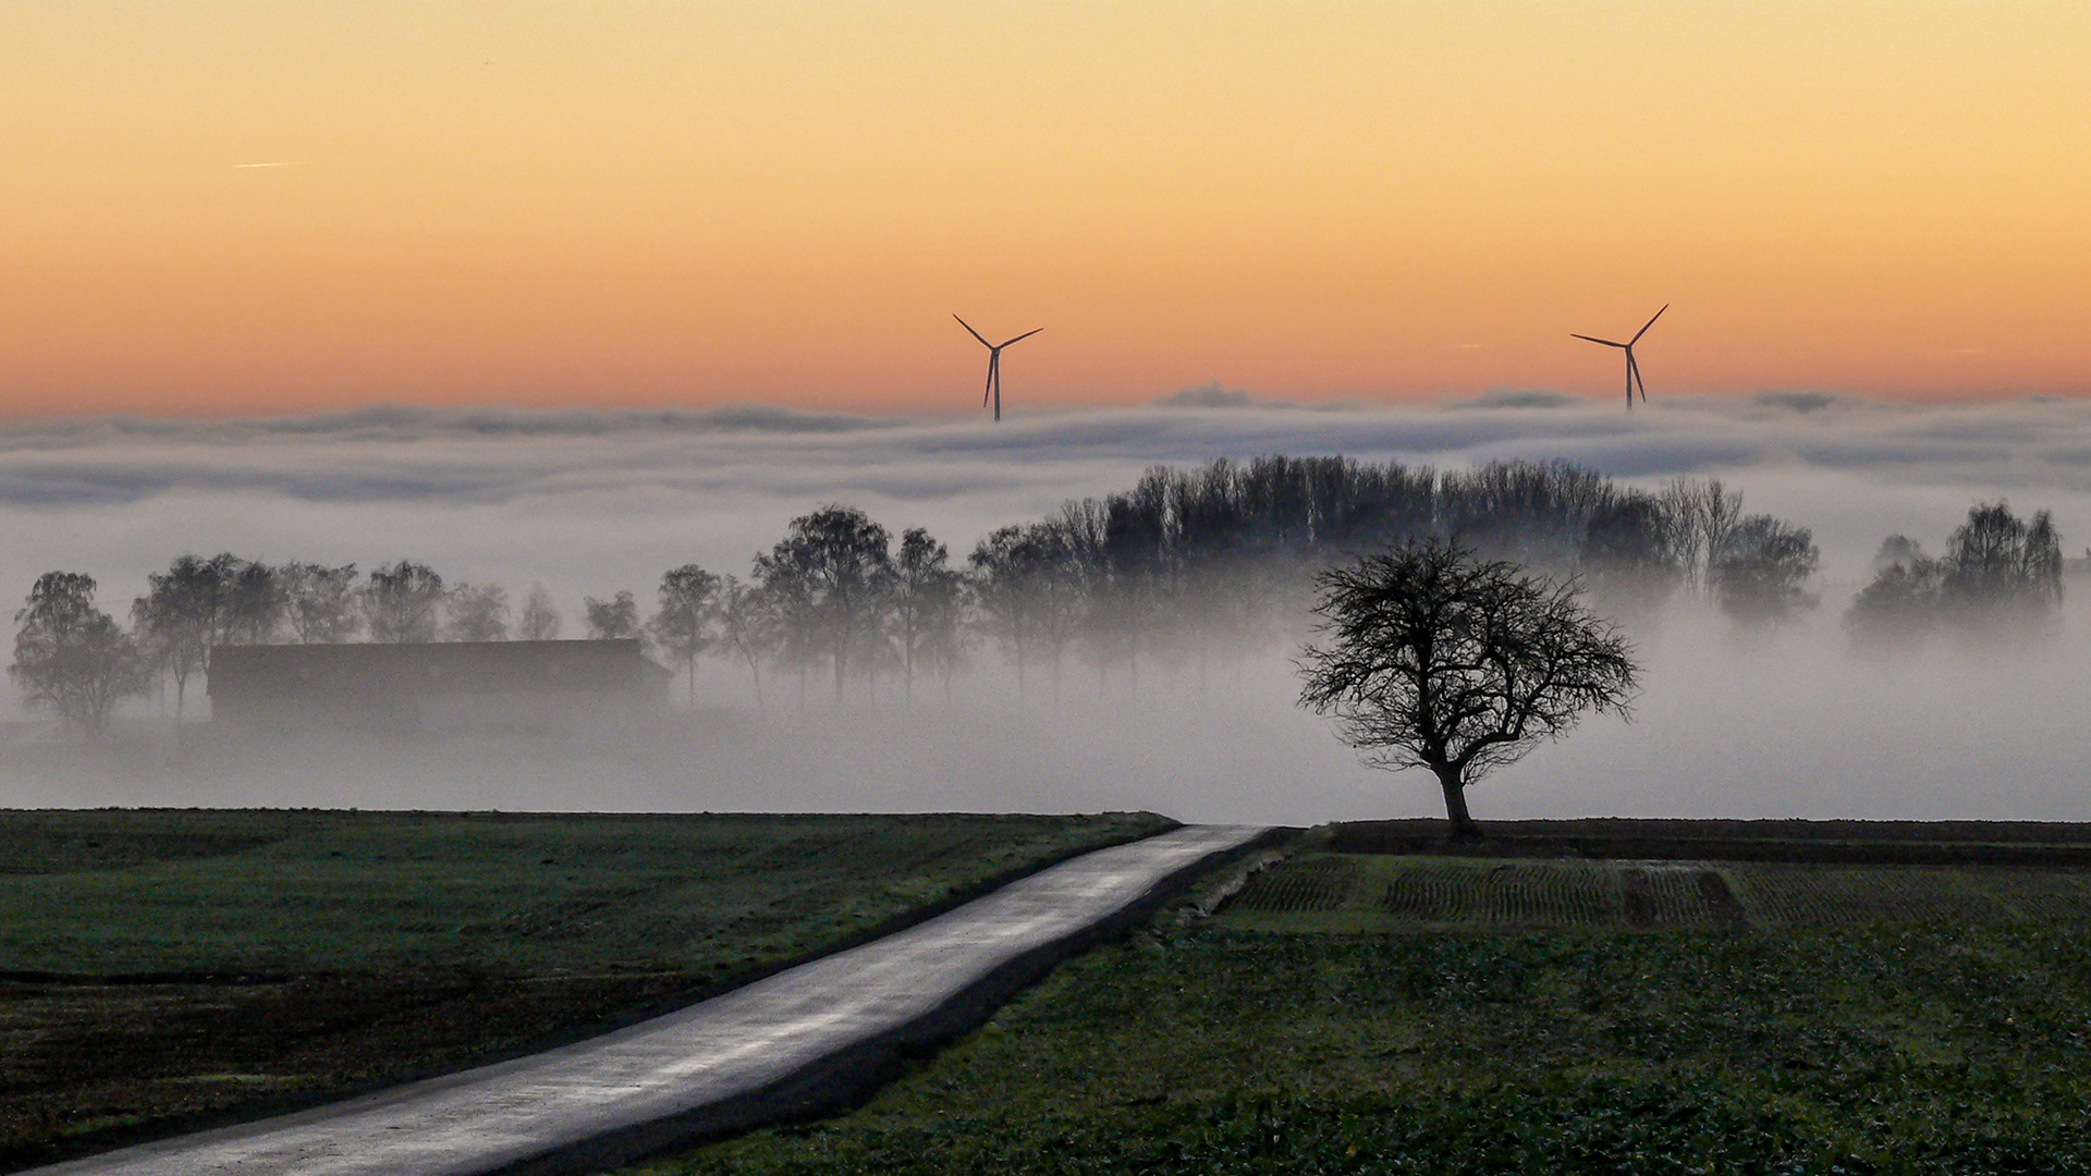
<instances>
[{"instance_id":1,"label":"long foggy row of bare trees right of barn, behind lone tree","mask_svg":"<svg viewBox=\"0 0 2091 1176\"><path fill-rule=\"evenodd\" d=\"M949 693L983 644L999 647L1020 693L1046 670L1058 697L1071 657L1100 686L1123 672L1138 691L1142 665L1196 663L1202 676L1215 655L1296 644L1319 569L1414 540L1581 575L1627 624L1652 621L1677 592L1713 598L1740 626L1815 603L1809 532L1744 515L1719 481L1650 494L1568 462L1434 473L1271 456L1152 469L1127 492L997 527L964 565L926 532L895 548L861 511L824 506L755 557L749 582L709 580L709 596L686 596L688 640L669 649L692 676L707 651L742 663L757 695L765 665L792 674L801 699L815 674L836 699L887 674L907 699L922 676ZM667 609L667 580L661 594Z\"/></svg>"}]
</instances>

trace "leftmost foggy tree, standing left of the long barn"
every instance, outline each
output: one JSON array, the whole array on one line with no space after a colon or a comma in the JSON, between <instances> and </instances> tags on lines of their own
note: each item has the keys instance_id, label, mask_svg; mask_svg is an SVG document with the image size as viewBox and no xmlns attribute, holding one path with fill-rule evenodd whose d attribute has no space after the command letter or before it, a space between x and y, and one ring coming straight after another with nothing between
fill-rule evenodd
<instances>
[{"instance_id":1,"label":"leftmost foggy tree, standing left of the long barn","mask_svg":"<svg viewBox=\"0 0 2091 1176\"><path fill-rule=\"evenodd\" d=\"M88 737L109 728L117 701L151 682L138 644L94 607L94 578L46 571L15 613L8 676L31 707L50 707Z\"/></svg>"}]
</instances>

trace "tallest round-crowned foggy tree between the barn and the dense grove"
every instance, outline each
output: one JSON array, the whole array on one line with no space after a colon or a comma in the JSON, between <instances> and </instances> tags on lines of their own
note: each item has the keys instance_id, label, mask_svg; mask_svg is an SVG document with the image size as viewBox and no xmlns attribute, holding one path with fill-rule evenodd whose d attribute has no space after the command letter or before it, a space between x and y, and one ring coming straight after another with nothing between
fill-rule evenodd
<instances>
[{"instance_id":1,"label":"tallest round-crowned foggy tree between the barn and the dense grove","mask_svg":"<svg viewBox=\"0 0 2091 1176\"><path fill-rule=\"evenodd\" d=\"M799 659L801 682L807 659L826 657L838 703L851 653L866 634L884 628L891 559L887 529L855 506L822 506L792 519L784 540L755 559L755 578L776 607L772 615L784 630L784 651Z\"/></svg>"}]
</instances>

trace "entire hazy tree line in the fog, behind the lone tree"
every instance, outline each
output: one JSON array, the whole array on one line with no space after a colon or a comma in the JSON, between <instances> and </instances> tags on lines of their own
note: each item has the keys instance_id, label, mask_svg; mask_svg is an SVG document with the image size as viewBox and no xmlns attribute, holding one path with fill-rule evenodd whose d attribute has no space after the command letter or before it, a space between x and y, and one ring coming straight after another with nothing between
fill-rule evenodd
<instances>
[{"instance_id":1,"label":"entire hazy tree line in the fog, behind the lone tree","mask_svg":"<svg viewBox=\"0 0 2091 1176\"><path fill-rule=\"evenodd\" d=\"M1133 488L1006 525L953 557L928 532L897 540L864 511L830 504L792 519L746 575L688 563L652 603L585 598L579 634L640 638L688 676L707 657L736 665L757 703L782 676L803 705L818 680L843 699L882 682L914 701L949 695L985 657L1020 693L1066 665L1106 688L1142 672L1207 674L1213 661L1296 647L1313 575L1403 540L1453 540L1556 578L1627 628L1677 594L1715 603L1742 630L1813 609L1819 550L1807 527L1746 515L1715 479L1621 488L1572 462L1432 471L1399 462L1265 456L1202 469L1156 467ZM1897 546L1901 544L1901 546ZM2045 513L2018 521L1978 506L1945 557L1890 538L1846 617L1867 649L1907 647L1974 617L2039 619L2060 603L2060 538ZM130 695L167 684L176 711L220 644L550 640L565 619L542 584L521 605L498 584L447 584L397 561L282 563L182 555L148 575L130 630L94 605L94 580L54 571L17 613L10 674L33 705L88 730ZM1997 605L2007 601L2007 605Z\"/></svg>"}]
</instances>

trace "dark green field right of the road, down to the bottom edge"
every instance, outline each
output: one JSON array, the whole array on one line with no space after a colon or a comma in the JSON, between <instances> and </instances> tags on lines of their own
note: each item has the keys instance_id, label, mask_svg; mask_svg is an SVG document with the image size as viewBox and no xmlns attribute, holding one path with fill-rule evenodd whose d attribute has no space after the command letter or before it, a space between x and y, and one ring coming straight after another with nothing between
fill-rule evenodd
<instances>
[{"instance_id":1,"label":"dark green field right of the road, down to the bottom edge","mask_svg":"<svg viewBox=\"0 0 2091 1176\"><path fill-rule=\"evenodd\" d=\"M1309 847L634 1174L2091 1172L2085 881Z\"/></svg>"}]
</instances>

